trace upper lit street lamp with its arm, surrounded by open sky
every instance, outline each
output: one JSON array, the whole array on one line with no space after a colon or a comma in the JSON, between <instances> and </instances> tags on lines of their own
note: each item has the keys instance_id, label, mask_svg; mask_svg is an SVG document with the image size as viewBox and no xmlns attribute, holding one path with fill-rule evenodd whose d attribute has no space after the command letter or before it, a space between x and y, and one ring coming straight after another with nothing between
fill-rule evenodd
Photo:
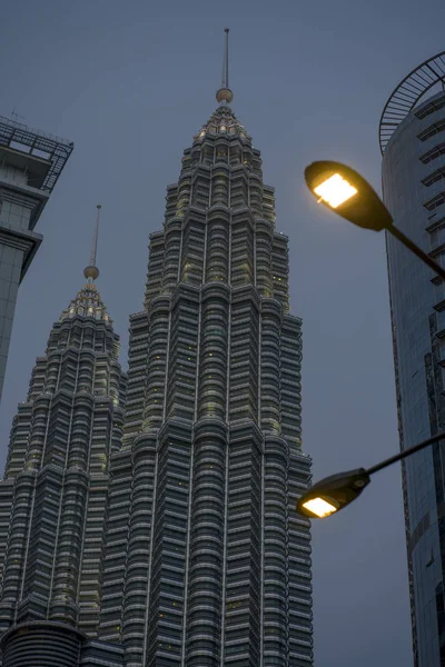
<instances>
[{"instance_id":1,"label":"upper lit street lamp with its arm, surrounded by open sky","mask_svg":"<svg viewBox=\"0 0 445 667\"><path fill-rule=\"evenodd\" d=\"M305 179L319 203L364 229L386 229L445 280L445 269L393 225L388 209L357 171L340 162L323 160L306 167Z\"/></svg>"}]
</instances>

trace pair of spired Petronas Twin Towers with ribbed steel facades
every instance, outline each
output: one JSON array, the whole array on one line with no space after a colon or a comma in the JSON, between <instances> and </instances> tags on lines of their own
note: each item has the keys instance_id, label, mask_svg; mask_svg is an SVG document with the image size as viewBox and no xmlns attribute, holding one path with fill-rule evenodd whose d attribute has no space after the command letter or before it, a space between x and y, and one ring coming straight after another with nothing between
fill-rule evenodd
<instances>
[{"instance_id":1,"label":"pair of spired Petronas Twin Towers with ribbed steel facades","mask_svg":"<svg viewBox=\"0 0 445 667\"><path fill-rule=\"evenodd\" d=\"M274 190L228 107L150 236L128 375L87 285L50 334L0 482L3 667L310 667L301 321Z\"/></svg>"}]
</instances>

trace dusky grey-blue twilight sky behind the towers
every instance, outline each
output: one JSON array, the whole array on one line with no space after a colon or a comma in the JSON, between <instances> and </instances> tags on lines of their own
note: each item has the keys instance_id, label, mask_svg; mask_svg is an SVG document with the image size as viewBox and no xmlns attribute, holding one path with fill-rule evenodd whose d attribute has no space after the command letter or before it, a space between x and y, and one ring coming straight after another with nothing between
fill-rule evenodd
<instances>
[{"instance_id":1,"label":"dusky grey-blue twilight sky behind the towers","mask_svg":"<svg viewBox=\"0 0 445 667\"><path fill-rule=\"evenodd\" d=\"M398 448L384 237L315 206L315 159L355 166L379 190L378 121L393 88L444 50L431 0L21 0L0 26L0 115L75 142L39 221L19 291L0 407L0 467L52 322L83 283L102 205L98 286L122 338L142 305L147 242L166 186L215 110L224 28L233 109L276 188L290 238L291 311L304 321L304 449L314 480ZM400 471L313 526L316 667L411 667Z\"/></svg>"}]
</instances>

